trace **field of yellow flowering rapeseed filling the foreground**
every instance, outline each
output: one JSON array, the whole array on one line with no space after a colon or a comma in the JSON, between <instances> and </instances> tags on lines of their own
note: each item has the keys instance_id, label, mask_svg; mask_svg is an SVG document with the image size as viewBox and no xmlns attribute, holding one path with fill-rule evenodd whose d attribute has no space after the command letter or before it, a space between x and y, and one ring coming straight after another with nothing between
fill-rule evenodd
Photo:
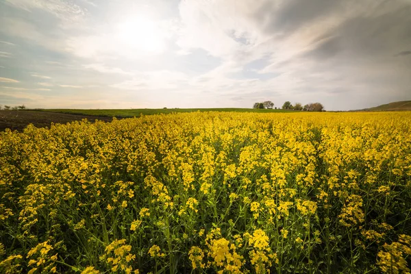
<instances>
[{"instance_id":1,"label":"field of yellow flowering rapeseed filling the foreground","mask_svg":"<svg viewBox=\"0 0 411 274\"><path fill-rule=\"evenodd\" d=\"M0 273L409 273L411 112L0 133Z\"/></svg>"}]
</instances>

